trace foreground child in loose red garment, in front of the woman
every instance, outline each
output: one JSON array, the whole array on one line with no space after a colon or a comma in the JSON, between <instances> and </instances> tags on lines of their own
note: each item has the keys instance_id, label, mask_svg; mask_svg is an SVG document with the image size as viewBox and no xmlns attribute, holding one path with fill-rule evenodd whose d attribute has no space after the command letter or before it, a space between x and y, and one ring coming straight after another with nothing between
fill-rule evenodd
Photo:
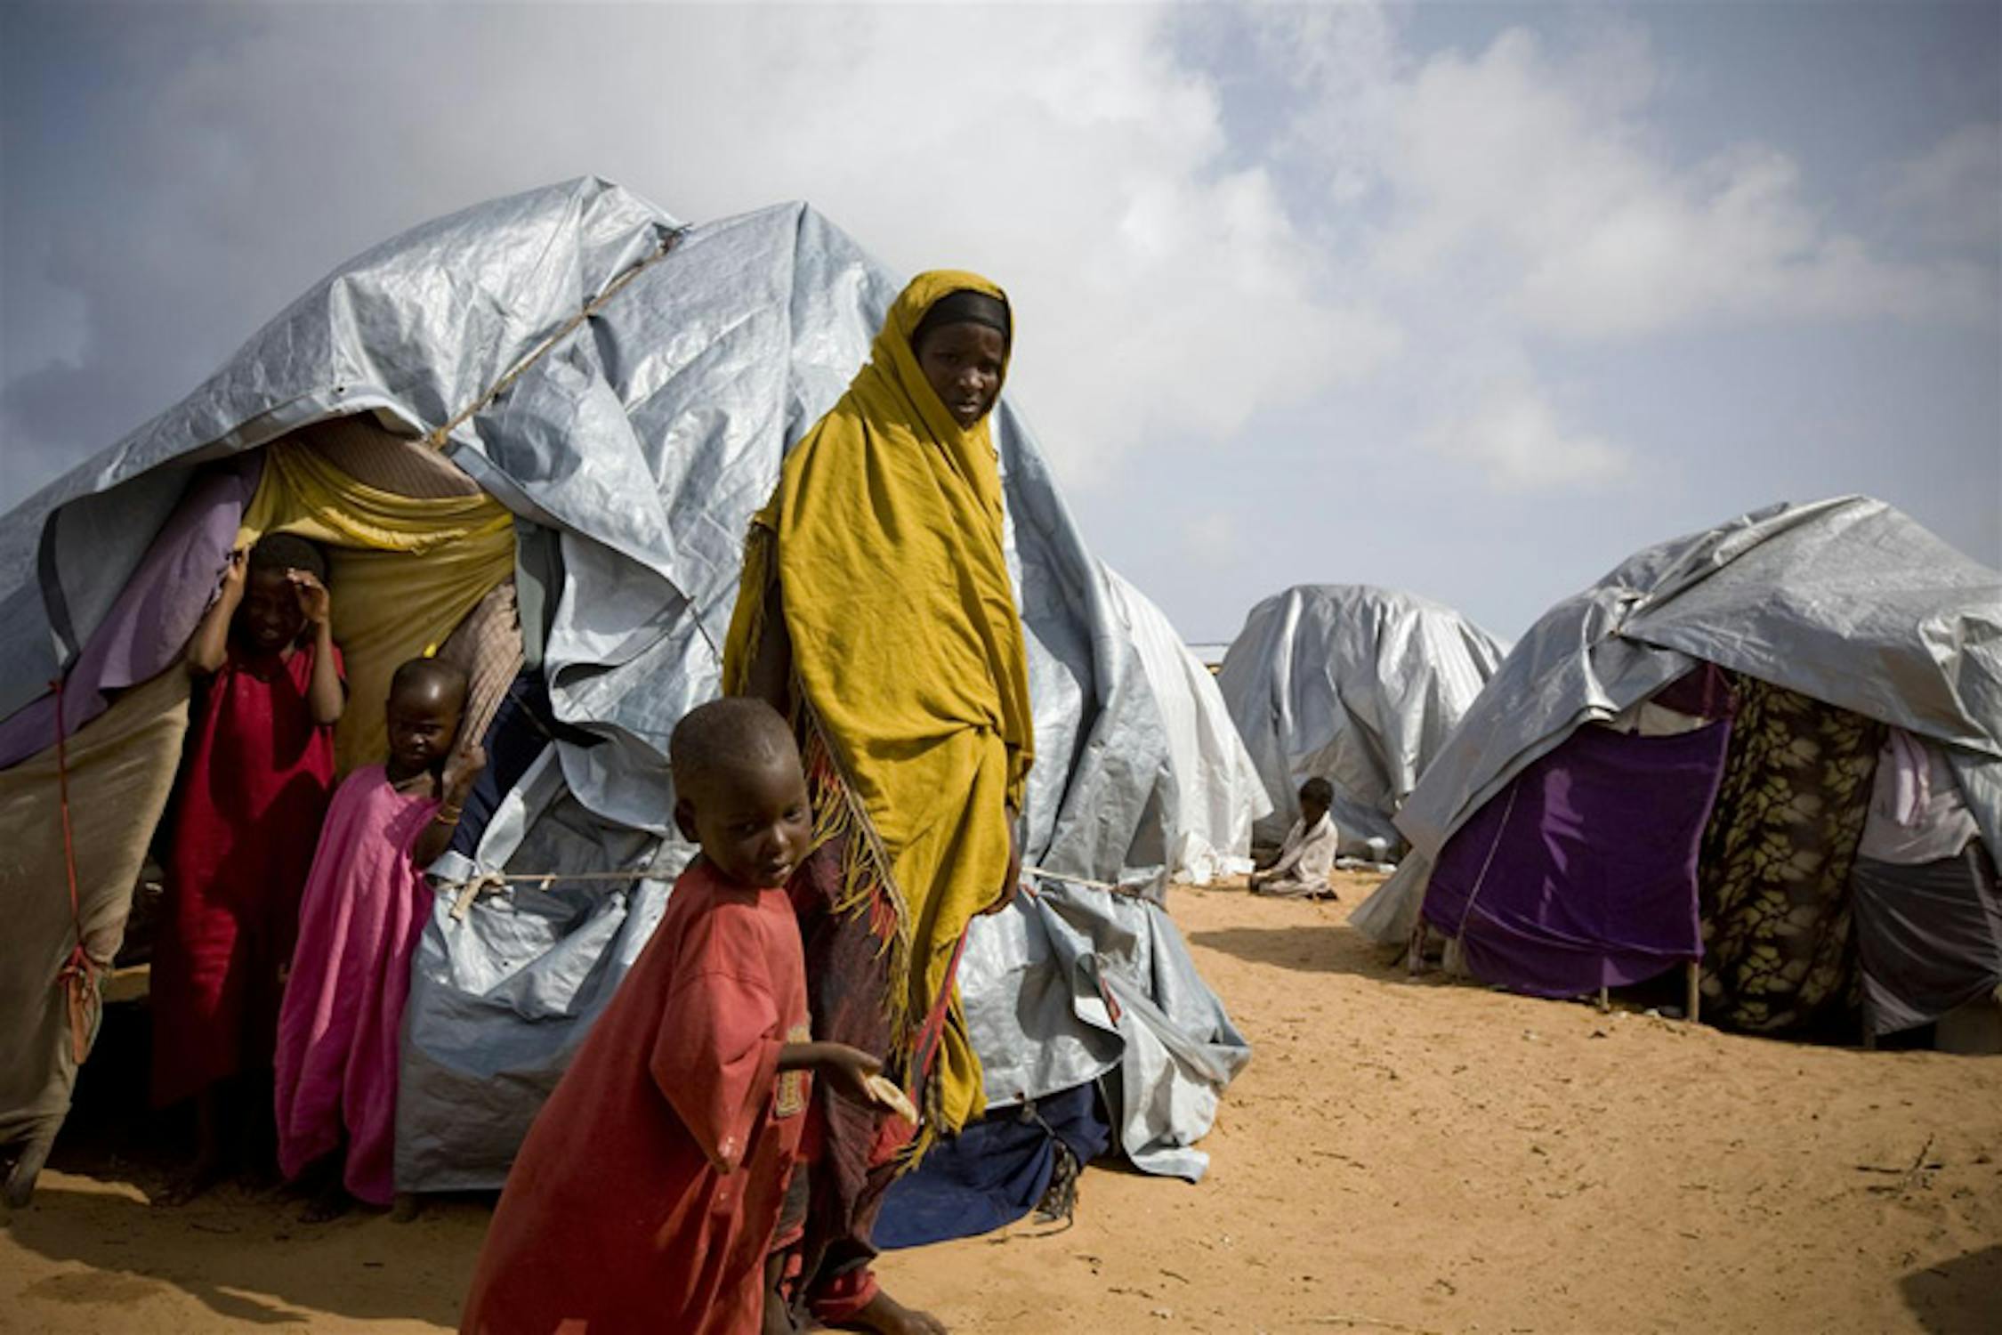
<instances>
[{"instance_id":1,"label":"foreground child in loose red garment, in front of the woman","mask_svg":"<svg viewBox=\"0 0 2002 1335\"><path fill-rule=\"evenodd\" d=\"M791 1331L767 1253L809 1073L861 1101L879 1061L813 1043L785 883L813 845L793 731L763 701L691 711L675 825L703 855L537 1117L462 1331Z\"/></svg>"}]
</instances>

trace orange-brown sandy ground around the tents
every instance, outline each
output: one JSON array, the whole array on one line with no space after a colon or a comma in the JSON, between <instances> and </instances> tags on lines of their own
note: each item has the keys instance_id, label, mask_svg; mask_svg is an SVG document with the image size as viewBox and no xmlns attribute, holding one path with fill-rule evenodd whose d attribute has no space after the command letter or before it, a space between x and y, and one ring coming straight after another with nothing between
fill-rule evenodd
<instances>
[{"instance_id":1,"label":"orange-brown sandy ground around the tents","mask_svg":"<svg viewBox=\"0 0 2002 1335\"><path fill-rule=\"evenodd\" d=\"M1257 1055L1199 1185L1093 1169L1059 1233L897 1253L957 1331L2002 1331L2002 1059L1734 1039L1409 983L1341 905L1175 891ZM88 1139L88 1137L82 1137ZM6 1331L434 1331L476 1201L292 1223L58 1147Z\"/></svg>"}]
</instances>

